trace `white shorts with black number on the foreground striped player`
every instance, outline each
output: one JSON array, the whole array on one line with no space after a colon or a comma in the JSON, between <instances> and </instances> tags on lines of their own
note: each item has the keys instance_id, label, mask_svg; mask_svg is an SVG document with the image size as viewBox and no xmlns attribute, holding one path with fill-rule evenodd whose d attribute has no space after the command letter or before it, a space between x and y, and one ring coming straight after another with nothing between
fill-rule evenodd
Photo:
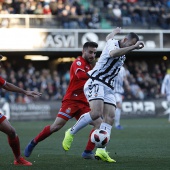
<instances>
[{"instance_id":1,"label":"white shorts with black number on the foreground striped player","mask_svg":"<svg viewBox=\"0 0 170 170\"><path fill-rule=\"evenodd\" d=\"M84 94L88 101L103 100L106 104L116 107L113 90L100 81L88 79L84 85Z\"/></svg>"}]
</instances>

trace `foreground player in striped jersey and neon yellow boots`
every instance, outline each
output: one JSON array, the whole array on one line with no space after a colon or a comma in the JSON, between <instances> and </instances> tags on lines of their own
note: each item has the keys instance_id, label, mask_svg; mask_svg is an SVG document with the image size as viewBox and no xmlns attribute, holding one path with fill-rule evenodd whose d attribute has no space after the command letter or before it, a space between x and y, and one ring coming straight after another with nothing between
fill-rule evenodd
<instances>
[{"instance_id":1,"label":"foreground player in striped jersey and neon yellow boots","mask_svg":"<svg viewBox=\"0 0 170 170\"><path fill-rule=\"evenodd\" d=\"M125 54L144 47L143 41L134 32L128 33L122 40L115 40L114 31L106 37L106 45L95 67L87 74L89 79L85 83L84 93L89 101L91 111L83 114L76 124L68 129L63 140L63 148L71 147L74 135L90 122L103 117L100 129L111 134L114 123L116 100L114 96L115 77L124 64ZM107 161L105 149L97 149L96 157ZM115 161L112 161L115 162Z\"/></svg>"}]
</instances>

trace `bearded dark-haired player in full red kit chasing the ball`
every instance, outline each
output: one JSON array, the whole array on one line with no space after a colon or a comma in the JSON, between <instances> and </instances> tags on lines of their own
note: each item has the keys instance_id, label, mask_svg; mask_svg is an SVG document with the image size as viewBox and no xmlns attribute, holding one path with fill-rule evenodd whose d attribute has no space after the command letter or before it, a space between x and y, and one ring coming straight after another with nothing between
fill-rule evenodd
<instances>
[{"instance_id":1,"label":"bearded dark-haired player in full red kit chasing the ball","mask_svg":"<svg viewBox=\"0 0 170 170\"><path fill-rule=\"evenodd\" d=\"M86 42L83 45L82 56L78 57L70 68L70 83L67 92L62 100L62 106L52 125L46 126L25 148L25 156L29 157L34 147L42 140L49 137L52 133L60 130L66 122L75 117L77 120L81 115L90 111L89 103L84 95L84 84L88 79L87 72L92 69L95 63L95 56L98 44L95 42ZM101 123L101 119L92 122L95 128ZM91 133L93 130L91 131ZM90 151L88 157L94 157L92 150L94 144L88 141L86 151ZM83 156L83 155L82 155ZM85 155L86 156L86 155ZM83 156L84 157L84 156ZM84 157L84 158L88 158Z\"/></svg>"}]
</instances>

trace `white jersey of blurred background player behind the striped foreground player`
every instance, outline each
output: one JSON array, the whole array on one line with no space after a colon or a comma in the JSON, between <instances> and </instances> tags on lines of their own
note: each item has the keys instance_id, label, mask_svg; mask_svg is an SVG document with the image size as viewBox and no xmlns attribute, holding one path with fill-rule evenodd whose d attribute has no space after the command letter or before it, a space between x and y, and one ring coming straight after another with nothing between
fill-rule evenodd
<instances>
[{"instance_id":1,"label":"white jersey of blurred background player behind the striped foreground player","mask_svg":"<svg viewBox=\"0 0 170 170\"><path fill-rule=\"evenodd\" d=\"M123 83L124 83L125 77L126 77L126 70L124 67L121 67L114 81L114 92L115 93L119 93L119 94L124 93Z\"/></svg>"}]
</instances>

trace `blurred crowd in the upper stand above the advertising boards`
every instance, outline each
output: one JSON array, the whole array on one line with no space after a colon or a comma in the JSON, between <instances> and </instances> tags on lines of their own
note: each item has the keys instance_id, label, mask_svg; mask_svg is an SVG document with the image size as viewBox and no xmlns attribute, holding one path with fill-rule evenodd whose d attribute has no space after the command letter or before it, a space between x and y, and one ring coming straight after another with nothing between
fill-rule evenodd
<instances>
[{"instance_id":1,"label":"blurred crowd in the upper stand above the advertising boards","mask_svg":"<svg viewBox=\"0 0 170 170\"><path fill-rule=\"evenodd\" d=\"M1 0L0 14L51 15L56 28L66 29L99 29L103 21L123 28L169 29L170 0ZM0 21L1 26L8 22Z\"/></svg>"}]
</instances>

